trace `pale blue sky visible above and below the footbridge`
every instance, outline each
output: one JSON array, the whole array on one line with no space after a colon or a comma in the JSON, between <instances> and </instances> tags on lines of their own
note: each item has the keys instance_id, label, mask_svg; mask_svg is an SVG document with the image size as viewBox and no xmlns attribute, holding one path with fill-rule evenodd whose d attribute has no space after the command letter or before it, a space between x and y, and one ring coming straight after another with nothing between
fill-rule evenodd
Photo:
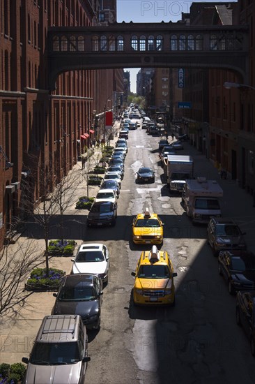
<instances>
[{"instance_id":1,"label":"pale blue sky visible above and below the footbridge","mask_svg":"<svg viewBox=\"0 0 255 384\"><path fill-rule=\"evenodd\" d=\"M117 22L177 22L181 19L182 12L189 13L191 4L198 2L226 3L226 0L117 0ZM125 71L130 72L131 91L136 93L137 72L139 68L125 68Z\"/></svg>"}]
</instances>

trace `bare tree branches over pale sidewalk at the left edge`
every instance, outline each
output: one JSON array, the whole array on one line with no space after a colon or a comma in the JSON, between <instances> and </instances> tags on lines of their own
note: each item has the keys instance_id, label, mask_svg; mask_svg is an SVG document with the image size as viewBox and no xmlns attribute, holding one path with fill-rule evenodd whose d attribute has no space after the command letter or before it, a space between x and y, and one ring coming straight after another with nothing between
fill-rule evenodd
<instances>
[{"instance_id":1,"label":"bare tree branches over pale sidewalk at the left edge","mask_svg":"<svg viewBox=\"0 0 255 384\"><path fill-rule=\"evenodd\" d=\"M24 290L31 269L43 262L43 252L33 239L4 246L0 253L0 315L22 305L31 295Z\"/></svg>"}]
</instances>

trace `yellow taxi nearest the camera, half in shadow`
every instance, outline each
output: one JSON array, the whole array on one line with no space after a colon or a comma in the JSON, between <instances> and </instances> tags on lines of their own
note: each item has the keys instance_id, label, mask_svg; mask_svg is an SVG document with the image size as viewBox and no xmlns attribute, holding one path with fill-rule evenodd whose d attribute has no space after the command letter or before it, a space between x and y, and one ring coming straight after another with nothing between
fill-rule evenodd
<instances>
[{"instance_id":1,"label":"yellow taxi nearest the camera, half in shadow","mask_svg":"<svg viewBox=\"0 0 255 384\"><path fill-rule=\"evenodd\" d=\"M141 253L135 272L133 299L136 305L174 305L173 265L166 251L153 245Z\"/></svg>"}]
</instances>

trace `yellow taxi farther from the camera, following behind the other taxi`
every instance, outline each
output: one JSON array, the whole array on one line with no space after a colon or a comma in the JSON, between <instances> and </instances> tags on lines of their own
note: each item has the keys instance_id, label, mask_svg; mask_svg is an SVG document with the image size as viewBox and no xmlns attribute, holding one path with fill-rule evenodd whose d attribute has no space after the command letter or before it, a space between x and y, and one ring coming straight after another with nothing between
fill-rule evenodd
<instances>
[{"instance_id":1,"label":"yellow taxi farther from the camera, following behind the other taxi","mask_svg":"<svg viewBox=\"0 0 255 384\"><path fill-rule=\"evenodd\" d=\"M133 220L134 244L162 244L163 226L160 217L146 208L144 214L138 214Z\"/></svg>"}]
</instances>

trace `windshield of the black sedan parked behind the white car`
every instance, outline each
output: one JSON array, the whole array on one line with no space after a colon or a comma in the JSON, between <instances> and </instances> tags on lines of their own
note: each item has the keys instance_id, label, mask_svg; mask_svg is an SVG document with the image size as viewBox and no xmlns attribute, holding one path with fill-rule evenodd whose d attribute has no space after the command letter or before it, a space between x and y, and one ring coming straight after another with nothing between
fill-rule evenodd
<instances>
[{"instance_id":1,"label":"windshield of the black sedan parked behind the white car","mask_svg":"<svg viewBox=\"0 0 255 384\"><path fill-rule=\"evenodd\" d=\"M77 284L77 286L65 286L61 289L58 300L61 302L84 302L95 300L95 290L91 286Z\"/></svg>"}]
</instances>

